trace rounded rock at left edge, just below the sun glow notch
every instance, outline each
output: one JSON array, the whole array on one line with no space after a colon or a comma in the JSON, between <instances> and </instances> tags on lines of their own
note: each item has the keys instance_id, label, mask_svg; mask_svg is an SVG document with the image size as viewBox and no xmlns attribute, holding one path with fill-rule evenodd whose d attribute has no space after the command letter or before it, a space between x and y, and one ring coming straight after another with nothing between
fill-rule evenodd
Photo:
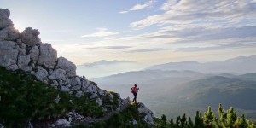
<instances>
[{"instance_id":1,"label":"rounded rock at left edge, just below the sun glow notch","mask_svg":"<svg viewBox=\"0 0 256 128\"><path fill-rule=\"evenodd\" d=\"M3 28L3 30L0 31L0 40L13 41L17 38L20 38L20 34L14 26Z\"/></svg>"}]
</instances>

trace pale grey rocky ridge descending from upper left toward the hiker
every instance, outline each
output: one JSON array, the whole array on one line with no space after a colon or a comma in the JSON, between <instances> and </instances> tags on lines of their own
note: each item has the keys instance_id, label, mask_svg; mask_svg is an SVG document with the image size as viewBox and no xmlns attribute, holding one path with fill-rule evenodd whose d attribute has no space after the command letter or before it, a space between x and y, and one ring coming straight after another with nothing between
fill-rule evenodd
<instances>
[{"instance_id":1,"label":"pale grey rocky ridge descending from upper left toward the hiker","mask_svg":"<svg viewBox=\"0 0 256 128\"><path fill-rule=\"evenodd\" d=\"M0 66L8 70L21 69L30 73L40 81L50 84L55 89L65 91L71 95L81 97L89 95L91 100L95 100L99 106L102 106L104 97L108 96L113 99L113 95L106 90L102 90L94 82L89 81L84 76L76 75L76 66L73 62L64 57L57 57L57 51L52 48L51 44L42 43L38 37L40 32L32 27L27 27L23 32L15 29L12 20L9 19L10 11L0 9ZM57 97L56 101L58 101ZM124 99L118 97L119 109L121 105L127 103ZM129 102L128 102L129 103ZM103 108L106 113L112 110ZM154 114L144 105L139 109L140 113L145 113L145 122L154 124ZM69 117L79 117L77 113L68 114ZM70 120L58 120L70 123Z\"/></svg>"}]
</instances>

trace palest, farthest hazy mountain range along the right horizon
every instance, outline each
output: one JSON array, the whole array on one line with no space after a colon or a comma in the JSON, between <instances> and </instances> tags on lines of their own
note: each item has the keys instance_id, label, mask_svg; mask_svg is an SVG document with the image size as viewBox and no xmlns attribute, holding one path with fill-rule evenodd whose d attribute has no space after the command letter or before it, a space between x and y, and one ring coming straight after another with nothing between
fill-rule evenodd
<instances>
[{"instance_id":1,"label":"palest, farthest hazy mountain range along the right horizon","mask_svg":"<svg viewBox=\"0 0 256 128\"><path fill-rule=\"evenodd\" d=\"M155 65L150 70L191 70L201 73L255 73L256 55L239 56L225 61L211 61L200 63L197 61L169 62Z\"/></svg>"}]
</instances>

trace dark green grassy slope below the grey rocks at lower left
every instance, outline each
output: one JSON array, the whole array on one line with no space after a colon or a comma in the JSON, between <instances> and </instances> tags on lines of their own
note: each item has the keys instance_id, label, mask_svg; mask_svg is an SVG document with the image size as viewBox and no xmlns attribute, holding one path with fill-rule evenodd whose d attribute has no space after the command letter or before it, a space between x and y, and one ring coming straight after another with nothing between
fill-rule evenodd
<instances>
[{"instance_id":1,"label":"dark green grassy slope below the grey rocks at lower left","mask_svg":"<svg viewBox=\"0 0 256 128\"><path fill-rule=\"evenodd\" d=\"M61 100L56 103L58 95ZM90 101L88 95L77 98L36 80L32 75L20 70L11 72L4 67L0 67L0 96L0 123L7 127L23 127L29 120L56 119L73 110L85 116L104 114L102 107Z\"/></svg>"}]
</instances>

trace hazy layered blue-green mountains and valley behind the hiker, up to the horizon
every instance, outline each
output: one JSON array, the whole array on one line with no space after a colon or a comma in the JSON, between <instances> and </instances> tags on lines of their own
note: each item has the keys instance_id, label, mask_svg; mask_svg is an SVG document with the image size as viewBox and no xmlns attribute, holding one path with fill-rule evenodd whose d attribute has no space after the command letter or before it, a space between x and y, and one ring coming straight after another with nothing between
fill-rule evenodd
<instances>
[{"instance_id":1,"label":"hazy layered blue-green mountains and valley behind the hiker, up to the horizon","mask_svg":"<svg viewBox=\"0 0 256 128\"><path fill-rule=\"evenodd\" d=\"M132 97L131 86L138 84L138 101L157 116L194 115L208 105L217 109L223 103L246 113L248 119L256 118L256 55L206 63L171 62L92 80L123 97Z\"/></svg>"}]
</instances>

